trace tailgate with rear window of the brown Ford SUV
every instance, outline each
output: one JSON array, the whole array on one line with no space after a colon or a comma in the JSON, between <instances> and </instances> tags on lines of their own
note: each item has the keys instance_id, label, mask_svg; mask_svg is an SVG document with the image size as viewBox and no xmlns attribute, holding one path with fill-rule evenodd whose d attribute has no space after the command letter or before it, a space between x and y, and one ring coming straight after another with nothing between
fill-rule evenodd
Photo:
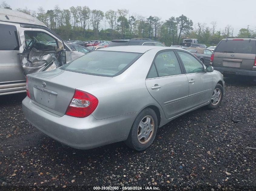
<instances>
[{"instance_id":1,"label":"tailgate with rear window of the brown Ford SUV","mask_svg":"<svg viewBox=\"0 0 256 191\"><path fill-rule=\"evenodd\" d=\"M212 66L252 70L255 56L255 40L222 40L214 49Z\"/></svg>"}]
</instances>

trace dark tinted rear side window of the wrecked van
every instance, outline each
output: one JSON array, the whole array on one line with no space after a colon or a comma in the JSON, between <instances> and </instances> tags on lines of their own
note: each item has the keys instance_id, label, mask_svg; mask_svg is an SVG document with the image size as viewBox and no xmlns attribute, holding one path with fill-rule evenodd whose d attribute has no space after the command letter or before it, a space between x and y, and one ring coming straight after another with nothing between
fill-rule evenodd
<instances>
[{"instance_id":1,"label":"dark tinted rear side window of the wrecked van","mask_svg":"<svg viewBox=\"0 0 256 191\"><path fill-rule=\"evenodd\" d=\"M16 27L8 24L0 24L0 29L0 50L19 50Z\"/></svg>"}]
</instances>

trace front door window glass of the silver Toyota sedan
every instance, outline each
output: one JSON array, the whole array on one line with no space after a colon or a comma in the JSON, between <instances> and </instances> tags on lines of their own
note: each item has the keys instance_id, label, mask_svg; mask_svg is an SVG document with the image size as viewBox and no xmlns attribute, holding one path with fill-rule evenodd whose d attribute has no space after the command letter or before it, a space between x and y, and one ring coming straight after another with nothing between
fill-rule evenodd
<instances>
[{"instance_id":1,"label":"front door window glass of the silver Toyota sedan","mask_svg":"<svg viewBox=\"0 0 256 191\"><path fill-rule=\"evenodd\" d=\"M194 56L181 51L178 51L178 54L181 57L187 74L204 72L204 66Z\"/></svg>"}]
</instances>

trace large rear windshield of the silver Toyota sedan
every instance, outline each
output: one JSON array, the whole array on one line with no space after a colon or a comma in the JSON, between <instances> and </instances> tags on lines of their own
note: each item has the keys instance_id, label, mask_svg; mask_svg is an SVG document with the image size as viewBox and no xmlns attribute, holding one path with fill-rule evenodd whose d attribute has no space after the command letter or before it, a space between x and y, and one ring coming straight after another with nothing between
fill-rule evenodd
<instances>
[{"instance_id":1,"label":"large rear windshield of the silver Toyota sedan","mask_svg":"<svg viewBox=\"0 0 256 191\"><path fill-rule=\"evenodd\" d=\"M113 77L124 72L142 53L94 51L61 67L62 70Z\"/></svg>"}]
</instances>

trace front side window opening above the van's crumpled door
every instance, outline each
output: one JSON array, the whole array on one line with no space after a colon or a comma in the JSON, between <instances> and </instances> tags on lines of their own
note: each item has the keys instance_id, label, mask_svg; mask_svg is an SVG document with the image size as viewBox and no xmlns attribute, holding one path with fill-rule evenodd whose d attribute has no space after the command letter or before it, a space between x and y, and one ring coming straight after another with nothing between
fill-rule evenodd
<instances>
[{"instance_id":1,"label":"front side window opening above the van's crumpled door","mask_svg":"<svg viewBox=\"0 0 256 191\"><path fill-rule=\"evenodd\" d=\"M35 48L38 50L57 50L58 49L56 40L50 35L48 35L47 33L44 33L42 31L28 30L28 31L25 31L24 34L25 34L26 46L32 45L31 48ZM32 40L34 40L34 42L30 43Z\"/></svg>"}]
</instances>

